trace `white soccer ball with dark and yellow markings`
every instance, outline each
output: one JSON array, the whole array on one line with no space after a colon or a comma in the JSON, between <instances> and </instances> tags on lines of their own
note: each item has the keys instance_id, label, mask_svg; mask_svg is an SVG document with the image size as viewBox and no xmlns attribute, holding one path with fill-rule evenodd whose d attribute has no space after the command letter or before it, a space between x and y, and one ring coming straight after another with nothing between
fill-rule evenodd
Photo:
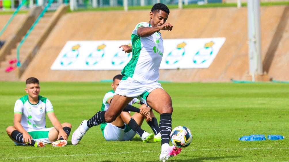
<instances>
[{"instance_id":1,"label":"white soccer ball with dark and yellow markings","mask_svg":"<svg viewBox=\"0 0 289 162\"><path fill-rule=\"evenodd\" d=\"M193 139L190 129L184 126L175 127L170 138L172 144L178 148L189 146Z\"/></svg>"}]
</instances>

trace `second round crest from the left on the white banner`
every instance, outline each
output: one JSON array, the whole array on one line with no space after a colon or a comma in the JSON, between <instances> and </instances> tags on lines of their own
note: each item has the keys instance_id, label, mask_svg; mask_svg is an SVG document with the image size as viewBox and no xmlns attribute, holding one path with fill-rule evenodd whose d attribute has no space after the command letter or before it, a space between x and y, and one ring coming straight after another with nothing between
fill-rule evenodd
<instances>
[{"instance_id":1,"label":"second round crest from the left on the white banner","mask_svg":"<svg viewBox=\"0 0 289 162\"><path fill-rule=\"evenodd\" d=\"M99 61L101 61L101 59L104 56L104 48L105 48L105 44L99 45L97 47L97 49L95 49L94 51L92 51L86 58L86 65L88 66L93 66L95 64L97 64Z\"/></svg>"}]
</instances>

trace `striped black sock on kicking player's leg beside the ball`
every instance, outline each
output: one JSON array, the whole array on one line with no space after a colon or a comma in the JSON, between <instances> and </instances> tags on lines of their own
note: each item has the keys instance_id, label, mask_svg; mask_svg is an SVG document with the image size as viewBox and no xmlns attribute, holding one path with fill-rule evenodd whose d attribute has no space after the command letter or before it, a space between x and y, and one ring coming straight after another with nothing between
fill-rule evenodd
<instances>
[{"instance_id":1,"label":"striped black sock on kicking player's leg beside the ball","mask_svg":"<svg viewBox=\"0 0 289 162\"><path fill-rule=\"evenodd\" d=\"M163 113L160 115L160 132L161 132L161 144L170 142L170 134L172 131L172 114Z\"/></svg>"}]
</instances>

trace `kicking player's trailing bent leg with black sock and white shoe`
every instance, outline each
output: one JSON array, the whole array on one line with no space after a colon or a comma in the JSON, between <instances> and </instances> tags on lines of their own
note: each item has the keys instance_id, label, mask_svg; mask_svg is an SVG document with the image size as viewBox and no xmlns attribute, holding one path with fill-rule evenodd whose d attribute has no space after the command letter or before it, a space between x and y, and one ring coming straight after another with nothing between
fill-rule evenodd
<instances>
[{"instance_id":1,"label":"kicking player's trailing bent leg with black sock and white shoe","mask_svg":"<svg viewBox=\"0 0 289 162\"><path fill-rule=\"evenodd\" d=\"M89 120L83 120L79 127L73 132L71 143L77 145L86 131L93 126L100 125L101 123L111 123L118 117L125 106L132 100L131 97L121 95L114 95L108 110L98 111Z\"/></svg>"}]
</instances>

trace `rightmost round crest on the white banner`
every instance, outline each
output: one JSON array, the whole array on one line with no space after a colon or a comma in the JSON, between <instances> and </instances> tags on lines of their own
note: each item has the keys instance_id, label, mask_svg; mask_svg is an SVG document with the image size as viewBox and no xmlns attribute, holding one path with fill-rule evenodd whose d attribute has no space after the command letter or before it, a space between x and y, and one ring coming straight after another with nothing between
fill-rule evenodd
<instances>
[{"instance_id":1,"label":"rightmost round crest on the white banner","mask_svg":"<svg viewBox=\"0 0 289 162\"><path fill-rule=\"evenodd\" d=\"M213 54L214 42L210 41L205 44L204 48L200 49L193 57L193 62L195 64L202 64L207 61Z\"/></svg>"}]
</instances>

